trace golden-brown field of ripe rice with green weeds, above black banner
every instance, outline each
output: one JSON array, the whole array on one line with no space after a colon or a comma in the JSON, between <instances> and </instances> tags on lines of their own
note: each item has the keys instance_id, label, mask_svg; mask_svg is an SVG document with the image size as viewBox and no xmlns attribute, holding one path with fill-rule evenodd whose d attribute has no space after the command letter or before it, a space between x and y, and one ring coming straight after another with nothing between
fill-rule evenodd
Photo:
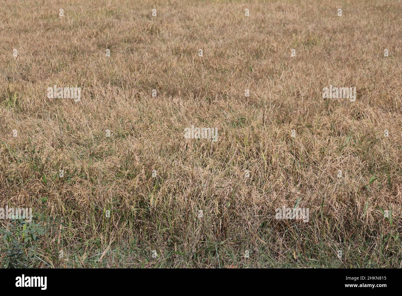
<instances>
[{"instance_id":1,"label":"golden-brown field of ripe rice with green weeds, above black banner","mask_svg":"<svg viewBox=\"0 0 402 296\"><path fill-rule=\"evenodd\" d=\"M389 0L2 1L0 207L35 225L0 221L0 265L400 267L401 24Z\"/></svg>"}]
</instances>

